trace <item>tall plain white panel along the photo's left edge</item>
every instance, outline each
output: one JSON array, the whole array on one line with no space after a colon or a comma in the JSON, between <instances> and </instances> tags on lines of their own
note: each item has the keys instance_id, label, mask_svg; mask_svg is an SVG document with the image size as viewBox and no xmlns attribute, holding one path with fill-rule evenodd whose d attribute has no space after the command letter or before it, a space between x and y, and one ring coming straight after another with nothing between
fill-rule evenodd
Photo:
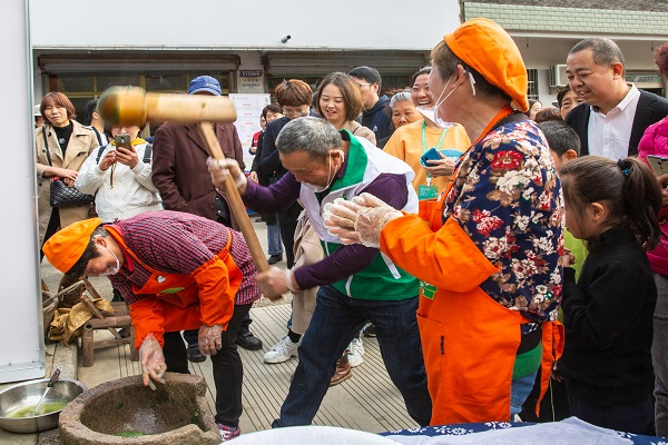
<instances>
[{"instance_id":1,"label":"tall plain white panel along the photo's left edge","mask_svg":"<svg viewBox=\"0 0 668 445\"><path fill-rule=\"evenodd\" d=\"M0 218L0 382L45 375L41 334L41 293L39 290L39 249L37 236L37 180L32 137L31 58L27 26L27 1L6 1L0 14L0 39L6 80L0 97L11 107L0 117L11 129L11 144L3 144L11 168L2 171Z\"/></svg>"}]
</instances>

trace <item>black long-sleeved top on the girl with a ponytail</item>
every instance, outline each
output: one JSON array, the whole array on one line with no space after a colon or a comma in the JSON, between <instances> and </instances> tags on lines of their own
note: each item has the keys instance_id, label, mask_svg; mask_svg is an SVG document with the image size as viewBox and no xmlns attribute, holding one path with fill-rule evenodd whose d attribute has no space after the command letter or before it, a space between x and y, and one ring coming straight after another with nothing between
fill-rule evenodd
<instances>
[{"instance_id":1,"label":"black long-sleeved top on the girl with a ponytail","mask_svg":"<svg viewBox=\"0 0 668 445\"><path fill-rule=\"evenodd\" d=\"M576 259L578 260L578 258ZM566 346L558 368L590 405L647 399L654 389L652 317L657 287L647 255L620 224L600 236L576 284L563 268Z\"/></svg>"}]
</instances>

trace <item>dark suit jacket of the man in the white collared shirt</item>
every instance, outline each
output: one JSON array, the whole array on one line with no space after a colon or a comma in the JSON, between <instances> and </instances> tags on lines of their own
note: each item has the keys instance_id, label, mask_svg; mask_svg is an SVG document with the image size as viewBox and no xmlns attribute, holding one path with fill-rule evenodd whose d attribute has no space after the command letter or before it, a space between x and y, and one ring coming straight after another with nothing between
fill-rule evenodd
<instances>
[{"instance_id":1,"label":"dark suit jacket of the man in the white collared shirt","mask_svg":"<svg viewBox=\"0 0 668 445\"><path fill-rule=\"evenodd\" d=\"M580 155L589 155L589 116L591 107L582 103L571 110L566 117L569 125L580 137ZM638 154L638 144L650 125L668 116L668 100L651 92L640 90L638 108L633 117L633 127L629 138L628 156Z\"/></svg>"}]
</instances>

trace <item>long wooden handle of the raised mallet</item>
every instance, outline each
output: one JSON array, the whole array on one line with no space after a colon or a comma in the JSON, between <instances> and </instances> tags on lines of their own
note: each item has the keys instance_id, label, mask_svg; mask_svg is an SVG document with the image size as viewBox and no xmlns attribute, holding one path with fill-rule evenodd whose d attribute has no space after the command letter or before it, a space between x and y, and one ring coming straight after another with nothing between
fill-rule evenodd
<instances>
[{"instance_id":1,"label":"long wooden handle of the raised mallet","mask_svg":"<svg viewBox=\"0 0 668 445\"><path fill-rule=\"evenodd\" d=\"M218 138L216 138L212 122L197 122L197 129L199 130L204 142L208 147L212 157L214 159L225 159L225 155L223 155L223 149L220 148ZM234 214L239 228L242 229L244 239L246 239L246 244L248 245L248 250L250 250L250 256L253 257L255 267L257 267L257 270L261 273L269 270L269 264L267 263L264 251L262 250L262 245L257 239L257 234L253 228L250 218L248 218L246 206L244 206L242 197L239 196L239 190L237 190L233 180L225 181L225 191L227 194L229 208ZM274 299L278 298L281 298L281 296Z\"/></svg>"}]
</instances>

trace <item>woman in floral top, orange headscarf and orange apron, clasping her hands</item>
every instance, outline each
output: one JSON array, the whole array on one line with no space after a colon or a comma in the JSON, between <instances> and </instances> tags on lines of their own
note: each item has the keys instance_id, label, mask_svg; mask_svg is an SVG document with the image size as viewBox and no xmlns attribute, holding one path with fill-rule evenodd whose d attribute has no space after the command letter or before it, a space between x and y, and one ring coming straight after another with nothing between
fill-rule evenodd
<instances>
[{"instance_id":1,"label":"woman in floral top, orange headscarf and orange apron, clasping her hands","mask_svg":"<svg viewBox=\"0 0 668 445\"><path fill-rule=\"evenodd\" d=\"M552 323L561 299L561 188L542 132L511 108L529 106L524 63L508 33L470 20L432 59L435 120L461 123L474 141L444 199L421 201L416 216L362 195L328 209L330 230L344 243L380 245L421 279L432 425L509 421L541 364L547 387L562 348Z\"/></svg>"}]
</instances>

